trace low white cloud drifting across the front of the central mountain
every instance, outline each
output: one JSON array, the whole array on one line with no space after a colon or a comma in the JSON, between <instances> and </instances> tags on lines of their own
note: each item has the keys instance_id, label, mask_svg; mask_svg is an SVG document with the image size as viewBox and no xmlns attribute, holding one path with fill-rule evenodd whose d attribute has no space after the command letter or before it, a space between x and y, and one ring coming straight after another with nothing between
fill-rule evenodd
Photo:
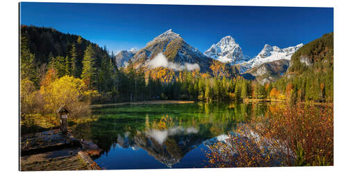
<instances>
[{"instance_id":1,"label":"low white cloud drifting across the front of the central mountain","mask_svg":"<svg viewBox=\"0 0 347 173\"><path fill-rule=\"evenodd\" d=\"M159 53L158 55L156 55L153 60L149 61L149 66L151 67L151 69L155 69L157 67L164 67L164 68L168 68L168 69L172 69L174 71L194 71L194 70L200 70L200 66L196 63L191 64L191 63L185 63L184 65L178 64L178 63L174 63L174 62L169 62L167 60L167 57L162 54Z\"/></svg>"}]
</instances>

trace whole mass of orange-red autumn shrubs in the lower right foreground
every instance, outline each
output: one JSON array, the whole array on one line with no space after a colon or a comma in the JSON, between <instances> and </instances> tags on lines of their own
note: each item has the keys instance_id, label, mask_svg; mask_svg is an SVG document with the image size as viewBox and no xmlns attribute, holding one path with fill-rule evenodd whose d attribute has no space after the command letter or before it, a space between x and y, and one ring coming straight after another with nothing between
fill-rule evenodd
<instances>
[{"instance_id":1,"label":"whole mass of orange-red autumn shrubs in the lower right foreground","mask_svg":"<svg viewBox=\"0 0 347 173\"><path fill-rule=\"evenodd\" d=\"M333 165L333 109L297 104L240 124L207 153L209 167Z\"/></svg>"}]
</instances>

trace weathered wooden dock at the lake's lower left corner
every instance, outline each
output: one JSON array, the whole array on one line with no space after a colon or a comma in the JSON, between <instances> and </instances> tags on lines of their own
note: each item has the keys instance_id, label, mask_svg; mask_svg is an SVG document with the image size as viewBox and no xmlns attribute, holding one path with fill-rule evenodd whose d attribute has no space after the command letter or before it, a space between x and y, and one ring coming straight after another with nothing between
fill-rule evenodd
<instances>
[{"instance_id":1,"label":"weathered wooden dock at the lake's lower left corner","mask_svg":"<svg viewBox=\"0 0 347 173\"><path fill-rule=\"evenodd\" d=\"M21 171L100 170L89 154L101 149L90 141L74 138L70 131L63 135L59 129L21 138Z\"/></svg>"}]
</instances>

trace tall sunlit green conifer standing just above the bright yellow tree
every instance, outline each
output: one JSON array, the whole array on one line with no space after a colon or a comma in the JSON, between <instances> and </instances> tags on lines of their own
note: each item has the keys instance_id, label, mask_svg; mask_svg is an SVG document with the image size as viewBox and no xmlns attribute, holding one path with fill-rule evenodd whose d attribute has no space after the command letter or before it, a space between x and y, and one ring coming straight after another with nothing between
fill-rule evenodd
<instances>
[{"instance_id":1,"label":"tall sunlit green conifer standing just above the bright yellow tree","mask_svg":"<svg viewBox=\"0 0 347 173\"><path fill-rule=\"evenodd\" d=\"M96 80L96 68L94 66L95 62L95 51L92 44L87 46L85 49L85 55L83 57L83 69L81 78L85 81L90 88L94 86L94 82Z\"/></svg>"}]
</instances>

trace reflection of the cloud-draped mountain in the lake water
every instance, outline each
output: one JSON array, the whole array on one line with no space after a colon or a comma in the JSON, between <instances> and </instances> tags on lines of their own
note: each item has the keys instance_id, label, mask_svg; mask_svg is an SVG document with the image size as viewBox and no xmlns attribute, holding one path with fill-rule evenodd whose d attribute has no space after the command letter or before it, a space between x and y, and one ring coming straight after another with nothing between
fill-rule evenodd
<instances>
[{"instance_id":1,"label":"reflection of the cloud-draped mountain in the lake water","mask_svg":"<svg viewBox=\"0 0 347 173\"><path fill-rule=\"evenodd\" d=\"M171 127L162 130L146 129L146 131L137 131L134 135L129 132L118 134L117 144L122 148L144 149L155 160L172 167L208 139L195 127Z\"/></svg>"}]
</instances>

